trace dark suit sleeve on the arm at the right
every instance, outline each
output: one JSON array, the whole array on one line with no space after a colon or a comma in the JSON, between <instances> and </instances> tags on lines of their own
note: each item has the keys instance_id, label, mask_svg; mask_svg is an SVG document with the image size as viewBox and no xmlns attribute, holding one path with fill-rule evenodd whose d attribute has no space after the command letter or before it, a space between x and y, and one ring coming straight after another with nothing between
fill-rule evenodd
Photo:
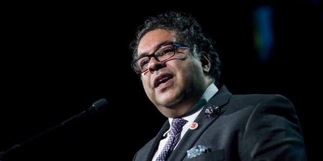
<instances>
[{"instance_id":1,"label":"dark suit sleeve on the arm at the right","mask_svg":"<svg viewBox=\"0 0 323 161\"><path fill-rule=\"evenodd\" d=\"M243 135L243 160L307 160L298 117L285 97L272 95L252 111Z\"/></svg>"}]
</instances>

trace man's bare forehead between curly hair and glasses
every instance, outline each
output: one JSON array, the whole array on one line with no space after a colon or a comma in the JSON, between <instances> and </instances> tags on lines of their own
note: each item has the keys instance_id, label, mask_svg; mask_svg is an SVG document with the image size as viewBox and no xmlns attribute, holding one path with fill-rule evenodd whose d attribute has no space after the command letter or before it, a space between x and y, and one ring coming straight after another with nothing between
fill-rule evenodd
<instances>
[{"instance_id":1,"label":"man's bare forehead between curly hair and glasses","mask_svg":"<svg viewBox=\"0 0 323 161\"><path fill-rule=\"evenodd\" d=\"M156 29L147 32L138 44L138 55L155 51L160 45L166 42L176 42L173 31Z\"/></svg>"}]
</instances>

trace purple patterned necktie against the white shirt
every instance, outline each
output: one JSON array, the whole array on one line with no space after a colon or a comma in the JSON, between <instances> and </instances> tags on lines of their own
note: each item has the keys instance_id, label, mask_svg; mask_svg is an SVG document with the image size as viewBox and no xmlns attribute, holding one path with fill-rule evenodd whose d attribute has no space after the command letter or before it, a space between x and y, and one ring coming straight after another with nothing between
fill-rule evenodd
<instances>
[{"instance_id":1,"label":"purple patterned necktie against the white shirt","mask_svg":"<svg viewBox=\"0 0 323 161\"><path fill-rule=\"evenodd\" d=\"M187 123L187 120L184 120L182 118L175 118L172 122L171 132L168 141L166 142L163 150L158 155L156 161L165 161L168 157L168 155L171 153L171 151L174 150L179 135L181 132L181 128Z\"/></svg>"}]
</instances>

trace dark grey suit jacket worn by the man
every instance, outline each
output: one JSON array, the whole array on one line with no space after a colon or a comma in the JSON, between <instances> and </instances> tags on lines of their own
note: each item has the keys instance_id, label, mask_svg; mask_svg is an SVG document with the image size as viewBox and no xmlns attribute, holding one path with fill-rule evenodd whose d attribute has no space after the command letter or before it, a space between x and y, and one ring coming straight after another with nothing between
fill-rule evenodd
<instances>
[{"instance_id":1,"label":"dark grey suit jacket worn by the man","mask_svg":"<svg viewBox=\"0 0 323 161\"><path fill-rule=\"evenodd\" d=\"M224 112L208 119L212 105ZM223 85L194 122L198 128L186 132L168 160L307 160L295 108L284 96L232 95ZM133 160L151 160L169 127L167 120ZM187 150L197 145L211 151L188 159Z\"/></svg>"}]
</instances>

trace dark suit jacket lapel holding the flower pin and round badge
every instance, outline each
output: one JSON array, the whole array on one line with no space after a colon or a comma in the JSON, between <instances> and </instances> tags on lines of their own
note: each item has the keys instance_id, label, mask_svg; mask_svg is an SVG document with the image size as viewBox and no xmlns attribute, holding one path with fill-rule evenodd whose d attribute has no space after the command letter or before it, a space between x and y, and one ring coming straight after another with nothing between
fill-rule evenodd
<instances>
[{"instance_id":1,"label":"dark suit jacket lapel holding the flower pin and round badge","mask_svg":"<svg viewBox=\"0 0 323 161\"><path fill-rule=\"evenodd\" d=\"M194 122L198 123L198 128L195 130L188 130L181 141L178 143L177 147L174 149L172 154L169 157L170 160L183 160L184 157L187 154L187 150L190 150L193 145L196 143L196 141L199 139L200 135L220 116L219 113L217 116L215 116L212 119L207 119L205 117L205 110L209 106L218 106L220 108L223 108L225 104L228 103L229 98L232 96L231 93L227 90L225 85L223 85L219 91L206 103L203 110L198 114L197 118L194 120ZM225 109L223 109L225 110Z\"/></svg>"}]
</instances>

